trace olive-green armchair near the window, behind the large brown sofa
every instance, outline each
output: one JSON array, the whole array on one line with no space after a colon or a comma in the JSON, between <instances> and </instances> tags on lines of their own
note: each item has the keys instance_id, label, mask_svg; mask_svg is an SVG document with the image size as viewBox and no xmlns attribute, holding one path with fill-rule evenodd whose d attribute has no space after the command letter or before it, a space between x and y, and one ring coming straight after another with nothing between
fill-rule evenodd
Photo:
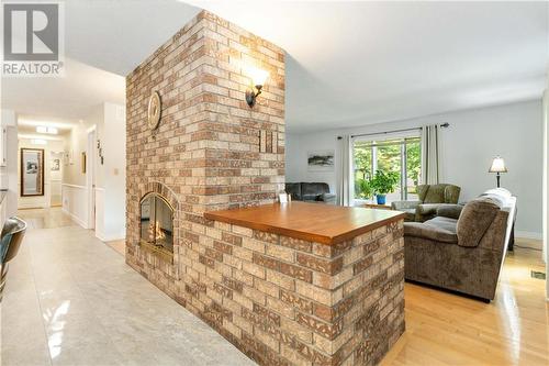
<instances>
[{"instance_id":1,"label":"olive-green armchair near the window, behind the large brown sofa","mask_svg":"<svg viewBox=\"0 0 549 366\"><path fill-rule=\"evenodd\" d=\"M453 185L419 185L417 186L418 201L394 201L393 210L406 213L405 221L424 222L436 217L440 204L458 203L461 188Z\"/></svg>"}]
</instances>

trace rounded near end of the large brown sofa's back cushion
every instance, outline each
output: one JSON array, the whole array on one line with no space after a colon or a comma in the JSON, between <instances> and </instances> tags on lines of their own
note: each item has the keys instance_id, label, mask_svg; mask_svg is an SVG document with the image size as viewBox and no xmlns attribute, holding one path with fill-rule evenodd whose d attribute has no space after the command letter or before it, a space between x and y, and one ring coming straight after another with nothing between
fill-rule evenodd
<instances>
[{"instance_id":1,"label":"rounded near end of the large brown sofa's back cushion","mask_svg":"<svg viewBox=\"0 0 549 366\"><path fill-rule=\"evenodd\" d=\"M458 220L457 234L460 246L478 246L488 228L500 211L494 198L479 197L468 202Z\"/></svg>"}]
</instances>

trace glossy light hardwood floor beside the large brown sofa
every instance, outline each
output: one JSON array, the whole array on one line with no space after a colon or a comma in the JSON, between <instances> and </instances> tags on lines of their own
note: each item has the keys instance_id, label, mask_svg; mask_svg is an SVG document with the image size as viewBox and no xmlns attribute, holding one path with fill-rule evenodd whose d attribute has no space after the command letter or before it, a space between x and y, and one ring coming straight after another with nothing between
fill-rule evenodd
<instances>
[{"instance_id":1,"label":"glossy light hardwood floor beside the large brown sofa","mask_svg":"<svg viewBox=\"0 0 549 366\"><path fill-rule=\"evenodd\" d=\"M545 273L541 252L516 247L492 303L406 284L406 332L382 365L549 365L545 280L530 270Z\"/></svg>"}]
</instances>

